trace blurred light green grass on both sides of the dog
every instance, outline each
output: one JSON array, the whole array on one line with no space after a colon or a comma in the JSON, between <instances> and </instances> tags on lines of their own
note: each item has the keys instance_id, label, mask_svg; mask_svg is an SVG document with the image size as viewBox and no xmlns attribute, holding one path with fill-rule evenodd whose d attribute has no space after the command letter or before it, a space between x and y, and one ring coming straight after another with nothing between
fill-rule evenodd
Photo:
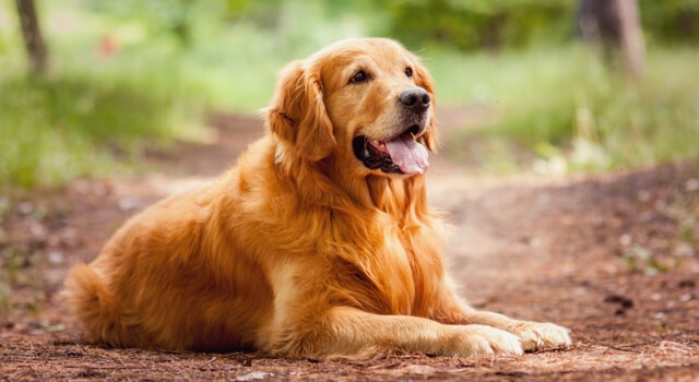
<instances>
[{"instance_id":1,"label":"blurred light green grass on both sides of the dog","mask_svg":"<svg viewBox=\"0 0 699 382\"><path fill-rule=\"evenodd\" d=\"M0 25L0 188L126 170L145 145L196 136L206 109L264 107L286 62L368 31L356 19L328 20L301 2L284 3L276 28L246 19L210 23L210 8L223 3L196 4L200 22L182 47L146 19L76 0L46 2L44 10L59 17L44 24L52 60L45 79L24 72L12 17ZM114 57L95 53L104 36L119 41ZM491 110L491 121L453 134L446 150L485 171L604 170L699 157L697 49L651 47L638 83L578 46L418 53L441 107Z\"/></svg>"}]
</instances>

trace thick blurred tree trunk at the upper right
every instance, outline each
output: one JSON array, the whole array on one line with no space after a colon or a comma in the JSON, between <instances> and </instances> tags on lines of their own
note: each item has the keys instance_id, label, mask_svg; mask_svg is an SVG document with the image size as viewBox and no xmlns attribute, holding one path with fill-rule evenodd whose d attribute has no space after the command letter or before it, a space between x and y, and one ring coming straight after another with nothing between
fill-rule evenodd
<instances>
[{"instance_id":1,"label":"thick blurred tree trunk at the upper right","mask_svg":"<svg viewBox=\"0 0 699 382\"><path fill-rule=\"evenodd\" d=\"M645 44L638 0L581 0L579 31L585 40L599 40L607 59L619 57L633 77L643 75Z\"/></svg>"}]
</instances>

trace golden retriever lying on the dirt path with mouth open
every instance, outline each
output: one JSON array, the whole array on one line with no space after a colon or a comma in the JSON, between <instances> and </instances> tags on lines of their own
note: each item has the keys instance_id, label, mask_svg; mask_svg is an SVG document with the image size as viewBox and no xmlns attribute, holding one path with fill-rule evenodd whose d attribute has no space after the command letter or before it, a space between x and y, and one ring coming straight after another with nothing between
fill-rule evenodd
<instances>
[{"instance_id":1,"label":"golden retriever lying on the dirt path with mouth open","mask_svg":"<svg viewBox=\"0 0 699 382\"><path fill-rule=\"evenodd\" d=\"M87 341L291 358L520 355L569 331L478 311L446 275L417 56L341 40L287 64L268 132L213 183L128 220L63 290Z\"/></svg>"}]
</instances>

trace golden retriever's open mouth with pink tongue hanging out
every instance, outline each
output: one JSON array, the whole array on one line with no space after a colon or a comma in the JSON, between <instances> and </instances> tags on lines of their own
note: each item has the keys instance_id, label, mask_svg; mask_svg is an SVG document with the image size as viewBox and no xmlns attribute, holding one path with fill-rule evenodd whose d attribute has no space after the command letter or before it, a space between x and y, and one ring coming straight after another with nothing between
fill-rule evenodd
<instances>
[{"instance_id":1,"label":"golden retriever's open mouth with pink tongue hanging out","mask_svg":"<svg viewBox=\"0 0 699 382\"><path fill-rule=\"evenodd\" d=\"M425 174L429 167L425 145L415 140L419 127L413 126L388 141L371 140L365 135L352 141L354 155L370 169L387 174Z\"/></svg>"}]
</instances>

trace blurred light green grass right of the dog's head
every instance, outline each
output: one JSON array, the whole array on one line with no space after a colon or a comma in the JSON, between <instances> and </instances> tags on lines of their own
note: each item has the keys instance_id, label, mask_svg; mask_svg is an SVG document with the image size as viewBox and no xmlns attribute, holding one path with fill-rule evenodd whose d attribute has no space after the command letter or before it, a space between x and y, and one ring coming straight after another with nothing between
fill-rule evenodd
<instances>
[{"instance_id":1,"label":"blurred light green grass right of the dog's head","mask_svg":"<svg viewBox=\"0 0 699 382\"><path fill-rule=\"evenodd\" d=\"M478 103L496 116L458 133L449 155L473 160L464 150L476 141L487 169L568 172L699 158L696 62L697 49L651 47L641 81L583 47L436 52L427 64L442 104Z\"/></svg>"}]
</instances>

